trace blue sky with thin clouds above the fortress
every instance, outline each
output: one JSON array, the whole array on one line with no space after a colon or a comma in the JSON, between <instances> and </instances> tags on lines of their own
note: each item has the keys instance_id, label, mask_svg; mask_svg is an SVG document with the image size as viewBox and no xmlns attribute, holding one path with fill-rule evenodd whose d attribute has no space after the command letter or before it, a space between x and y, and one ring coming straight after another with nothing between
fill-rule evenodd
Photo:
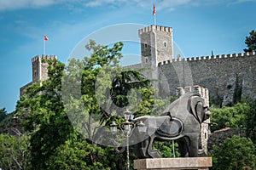
<instances>
[{"instance_id":1,"label":"blue sky with thin clouds above the fortress","mask_svg":"<svg viewBox=\"0 0 256 170\"><path fill-rule=\"evenodd\" d=\"M125 41L123 65L139 63L137 30L154 24L154 4L156 25L172 27L184 57L242 53L256 30L256 0L0 0L0 108L15 111L44 35L45 53L63 63L90 37Z\"/></svg>"}]
</instances>

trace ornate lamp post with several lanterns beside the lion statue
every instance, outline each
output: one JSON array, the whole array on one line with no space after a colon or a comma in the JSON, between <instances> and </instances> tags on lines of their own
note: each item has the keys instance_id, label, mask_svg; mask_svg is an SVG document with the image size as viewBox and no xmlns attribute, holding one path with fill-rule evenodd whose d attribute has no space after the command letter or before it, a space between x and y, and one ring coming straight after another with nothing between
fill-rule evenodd
<instances>
[{"instance_id":1,"label":"ornate lamp post with several lanterns beside the lion statue","mask_svg":"<svg viewBox=\"0 0 256 170\"><path fill-rule=\"evenodd\" d=\"M125 134L125 140L126 140L126 156L127 156L127 169L130 170L130 152L129 152L129 137L131 137L131 133L134 129L134 127L138 127L138 132L146 132L147 127L145 127L145 124L143 121L140 122L131 122L134 118L134 115L131 114L130 111L125 111L125 122L123 122L120 125L120 130L122 133ZM112 122L110 124L110 130L111 132L117 132L118 130L118 124L116 122Z\"/></svg>"}]
</instances>

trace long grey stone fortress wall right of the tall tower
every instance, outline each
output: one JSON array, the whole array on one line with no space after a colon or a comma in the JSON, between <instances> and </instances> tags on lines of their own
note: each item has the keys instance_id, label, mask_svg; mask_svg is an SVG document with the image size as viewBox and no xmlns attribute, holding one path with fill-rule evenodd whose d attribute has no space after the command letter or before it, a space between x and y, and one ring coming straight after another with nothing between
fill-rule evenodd
<instances>
[{"instance_id":1,"label":"long grey stone fortress wall right of the tall tower","mask_svg":"<svg viewBox=\"0 0 256 170\"><path fill-rule=\"evenodd\" d=\"M240 95L256 99L255 52L172 59L158 67L167 77L169 89L198 84L208 88L210 98L224 99L223 105ZM174 90L170 93L176 95Z\"/></svg>"}]
</instances>

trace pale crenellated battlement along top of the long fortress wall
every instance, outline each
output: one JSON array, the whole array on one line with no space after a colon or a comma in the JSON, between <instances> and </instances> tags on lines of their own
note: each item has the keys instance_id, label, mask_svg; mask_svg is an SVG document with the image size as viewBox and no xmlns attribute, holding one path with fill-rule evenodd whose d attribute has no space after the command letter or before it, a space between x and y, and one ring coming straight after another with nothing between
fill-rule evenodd
<instances>
[{"instance_id":1,"label":"pale crenellated battlement along top of the long fortress wall","mask_svg":"<svg viewBox=\"0 0 256 170\"><path fill-rule=\"evenodd\" d=\"M247 53L240 53L240 54L219 54L219 55L212 55L212 56L200 56L200 57L192 57L192 58L178 58L178 59L171 59L160 62L158 65L166 65L173 62L179 61L200 61L200 60L207 60L207 59L229 59L229 58L238 58L238 57L252 57L256 56L255 52L247 52Z\"/></svg>"}]
</instances>

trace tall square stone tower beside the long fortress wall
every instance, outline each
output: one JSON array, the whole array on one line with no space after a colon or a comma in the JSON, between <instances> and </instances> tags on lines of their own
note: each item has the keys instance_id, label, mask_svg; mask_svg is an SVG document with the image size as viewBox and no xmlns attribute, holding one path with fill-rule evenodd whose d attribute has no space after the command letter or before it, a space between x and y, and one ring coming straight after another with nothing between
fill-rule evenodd
<instances>
[{"instance_id":1,"label":"tall square stone tower beside the long fortress wall","mask_svg":"<svg viewBox=\"0 0 256 170\"><path fill-rule=\"evenodd\" d=\"M142 66L156 67L173 57L172 27L147 26L138 31Z\"/></svg>"}]
</instances>

